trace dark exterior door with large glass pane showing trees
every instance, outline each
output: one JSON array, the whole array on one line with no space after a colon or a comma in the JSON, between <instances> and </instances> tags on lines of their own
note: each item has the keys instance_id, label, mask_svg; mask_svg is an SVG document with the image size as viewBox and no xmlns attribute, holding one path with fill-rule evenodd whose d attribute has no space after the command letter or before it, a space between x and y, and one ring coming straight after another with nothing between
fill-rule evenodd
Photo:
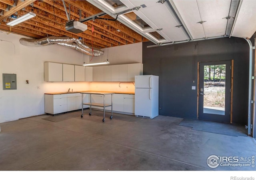
<instances>
[{"instance_id":1,"label":"dark exterior door with large glass pane showing trees","mask_svg":"<svg viewBox=\"0 0 256 180\"><path fill-rule=\"evenodd\" d=\"M230 122L231 61L199 62L198 118Z\"/></svg>"}]
</instances>

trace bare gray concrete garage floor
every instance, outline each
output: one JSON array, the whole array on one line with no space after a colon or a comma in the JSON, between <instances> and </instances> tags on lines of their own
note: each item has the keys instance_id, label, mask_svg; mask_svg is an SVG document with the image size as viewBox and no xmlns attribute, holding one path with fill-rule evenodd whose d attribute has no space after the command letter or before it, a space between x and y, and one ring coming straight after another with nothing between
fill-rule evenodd
<instances>
[{"instance_id":1,"label":"bare gray concrete garage floor","mask_svg":"<svg viewBox=\"0 0 256 180\"><path fill-rule=\"evenodd\" d=\"M256 170L206 164L210 155L255 156L254 138L192 130L178 125L182 118L42 120L47 116L0 124L0 170Z\"/></svg>"}]
</instances>

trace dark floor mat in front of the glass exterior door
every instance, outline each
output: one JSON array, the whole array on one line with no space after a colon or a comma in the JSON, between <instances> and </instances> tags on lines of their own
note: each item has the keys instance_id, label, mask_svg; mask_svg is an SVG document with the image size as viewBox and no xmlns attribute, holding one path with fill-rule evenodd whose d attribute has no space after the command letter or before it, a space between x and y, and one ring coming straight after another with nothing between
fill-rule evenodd
<instances>
[{"instance_id":1,"label":"dark floor mat in front of the glass exterior door","mask_svg":"<svg viewBox=\"0 0 256 180\"><path fill-rule=\"evenodd\" d=\"M204 120L183 119L180 126L192 127L192 130L224 134L228 136L247 136L247 130L242 125L226 124Z\"/></svg>"}]
</instances>

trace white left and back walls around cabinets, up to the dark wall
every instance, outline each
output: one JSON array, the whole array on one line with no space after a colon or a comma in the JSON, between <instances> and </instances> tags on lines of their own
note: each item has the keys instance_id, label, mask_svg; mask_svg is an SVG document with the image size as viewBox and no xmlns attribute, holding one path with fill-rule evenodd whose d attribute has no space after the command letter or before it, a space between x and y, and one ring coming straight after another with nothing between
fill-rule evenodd
<instances>
[{"instance_id":1,"label":"white left and back walls around cabinets, up to the dark wall","mask_svg":"<svg viewBox=\"0 0 256 180\"><path fill-rule=\"evenodd\" d=\"M133 84L121 84L120 88L118 82L44 82L44 62L82 65L84 61L92 63L108 59L110 65L142 63L142 43L105 48L102 49L104 56L92 58L59 45L23 46L20 38L26 37L0 31L0 123L44 114L44 93L66 92L68 88L73 91L134 90ZM17 90L3 90L3 73L17 74Z\"/></svg>"}]
</instances>

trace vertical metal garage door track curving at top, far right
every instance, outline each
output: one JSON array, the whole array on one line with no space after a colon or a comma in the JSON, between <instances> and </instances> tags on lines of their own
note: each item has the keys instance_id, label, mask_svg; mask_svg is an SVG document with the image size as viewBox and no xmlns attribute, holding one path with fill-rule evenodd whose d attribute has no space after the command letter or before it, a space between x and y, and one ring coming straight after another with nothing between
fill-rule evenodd
<instances>
[{"instance_id":1,"label":"vertical metal garage door track curving at top, far right","mask_svg":"<svg viewBox=\"0 0 256 180\"><path fill-rule=\"evenodd\" d=\"M248 94L248 136L251 135L252 123L252 42L244 38L249 44L249 94Z\"/></svg>"}]
</instances>

